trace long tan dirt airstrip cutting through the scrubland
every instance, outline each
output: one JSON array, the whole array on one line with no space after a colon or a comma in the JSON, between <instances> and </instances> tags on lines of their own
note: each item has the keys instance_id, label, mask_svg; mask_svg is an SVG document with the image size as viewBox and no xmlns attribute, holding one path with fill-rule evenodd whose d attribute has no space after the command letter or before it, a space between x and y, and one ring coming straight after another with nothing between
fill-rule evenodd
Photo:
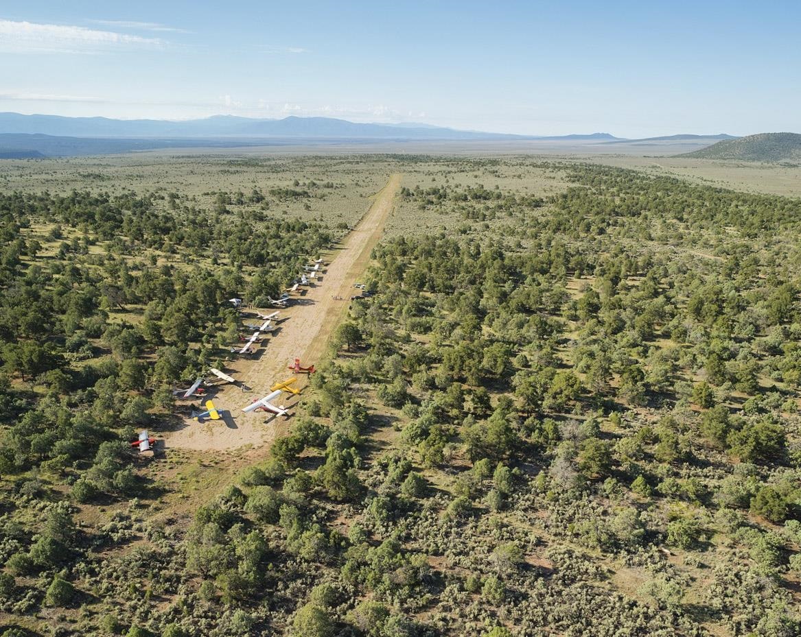
<instances>
[{"instance_id":1,"label":"long tan dirt airstrip cutting through the scrubland","mask_svg":"<svg viewBox=\"0 0 801 637\"><path fill-rule=\"evenodd\" d=\"M203 423L187 419L183 427L167 435L167 448L229 451L250 445L259 453L268 447L284 427L284 419L263 411L244 414L242 407L267 395L273 384L292 378L287 369L292 360L300 358L305 367L324 354L332 331L348 312L348 299L358 291L353 284L364 272L372 248L381 237L399 187L400 174L393 174L344 242L330 254L322 255L328 266L318 277L319 282L305 294L295 294L296 302L287 310L280 310L279 318L284 318L279 324L280 331L262 343L252 358L241 357L229 364L225 371L238 381L237 385L219 385L211 393L223 419ZM268 313L274 309L260 311ZM259 321L255 309L244 310L243 319L248 323ZM249 391L243 391L238 386L241 383ZM299 375L293 387L301 388L306 383L306 376ZM288 407L292 414L292 407L299 399L300 396L284 393L275 403Z\"/></svg>"}]
</instances>

